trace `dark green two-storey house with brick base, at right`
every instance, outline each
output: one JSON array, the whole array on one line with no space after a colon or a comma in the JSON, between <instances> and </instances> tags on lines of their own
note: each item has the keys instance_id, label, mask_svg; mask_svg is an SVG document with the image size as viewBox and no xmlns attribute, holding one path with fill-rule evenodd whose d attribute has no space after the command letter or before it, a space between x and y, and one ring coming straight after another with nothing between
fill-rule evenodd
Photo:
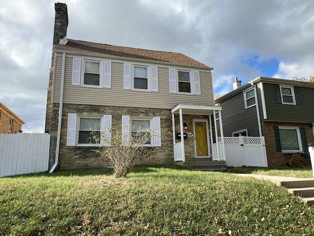
<instances>
[{"instance_id":1,"label":"dark green two-storey house with brick base, at right","mask_svg":"<svg viewBox=\"0 0 314 236\"><path fill-rule=\"evenodd\" d=\"M286 166L292 153L314 143L314 83L258 77L219 97L223 133L264 136L269 167Z\"/></svg>"}]
</instances>

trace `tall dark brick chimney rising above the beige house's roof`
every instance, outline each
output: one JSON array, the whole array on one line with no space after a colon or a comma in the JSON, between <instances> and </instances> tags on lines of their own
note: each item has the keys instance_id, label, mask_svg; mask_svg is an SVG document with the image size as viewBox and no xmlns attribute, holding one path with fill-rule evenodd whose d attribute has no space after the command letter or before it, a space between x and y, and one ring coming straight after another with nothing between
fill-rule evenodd
<instances>
[{"instance_id":1,"label":"tall dark brick chimney rising above the beige house's roof","mask_svg":"<svg viewBox=\"0 0 314 236\"><path fill-rule=\"evenodd\" d=\"M54 31L53 31L53 44L65 43L67 36L67 29L69 24L68 7L65 3L54 3ZM65 39L60 42L60 39Z\"/></svg>"}]
</instances>

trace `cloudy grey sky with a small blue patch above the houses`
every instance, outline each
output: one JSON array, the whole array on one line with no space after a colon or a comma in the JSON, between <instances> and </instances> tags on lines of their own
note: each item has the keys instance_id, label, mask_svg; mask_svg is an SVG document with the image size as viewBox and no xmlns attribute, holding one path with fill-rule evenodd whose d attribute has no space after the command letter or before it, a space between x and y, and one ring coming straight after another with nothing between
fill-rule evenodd
<instances>
[{"instance_id":1,"label":"cloudy grey sky with a small blue patch above the houses","mask_svg":"<svg viewBox=\"0 0 314 236\"><path fill-rule=\"evenodd\" d=\"M45 131L54 0L1 0L0 101ZM67 37L179 52L210 67L215 94L259 76L314 76L313 0L60 0Z\"/></svg>"}]
</instances>

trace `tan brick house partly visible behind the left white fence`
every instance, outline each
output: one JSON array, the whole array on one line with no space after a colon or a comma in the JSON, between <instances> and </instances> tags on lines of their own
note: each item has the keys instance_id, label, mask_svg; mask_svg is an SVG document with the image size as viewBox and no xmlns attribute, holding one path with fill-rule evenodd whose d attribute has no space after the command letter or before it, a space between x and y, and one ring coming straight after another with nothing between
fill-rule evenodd
<instances>
[{"instance_id":1,"label":"tan brick house partly visible behind the left white fence","mask_svg":"<svg viewBox=\"0 0 314 236\"><path fill-rule=\"evenodd\" d=\"M15 134L22 130L25 121L0 102L0 134Z\"/></svg>"}]
</instances>

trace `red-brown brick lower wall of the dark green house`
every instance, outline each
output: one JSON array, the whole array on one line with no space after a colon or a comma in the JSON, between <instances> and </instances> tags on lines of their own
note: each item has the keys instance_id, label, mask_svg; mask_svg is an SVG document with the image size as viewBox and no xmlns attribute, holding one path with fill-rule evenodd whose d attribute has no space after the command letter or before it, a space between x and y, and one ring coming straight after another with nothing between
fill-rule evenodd
<instances>
[{"instance_id":1,"label":"red-brown brick lower wall of the dark green house","mask_svg":"<svg viewBox=\"0 0 314 236\"><path fill-rule=\"evenodd\" d=\"M306 132L307 143L308 144L314 143L313 130L310 127L310 123L263 121L262 132L265 137L267 162L268 162L269 167L287 166L287 162L289 161L289 156L292 154L292 153L277 152L273 126L304 127L305 132Z\"/></svg>"}]
</instances>

